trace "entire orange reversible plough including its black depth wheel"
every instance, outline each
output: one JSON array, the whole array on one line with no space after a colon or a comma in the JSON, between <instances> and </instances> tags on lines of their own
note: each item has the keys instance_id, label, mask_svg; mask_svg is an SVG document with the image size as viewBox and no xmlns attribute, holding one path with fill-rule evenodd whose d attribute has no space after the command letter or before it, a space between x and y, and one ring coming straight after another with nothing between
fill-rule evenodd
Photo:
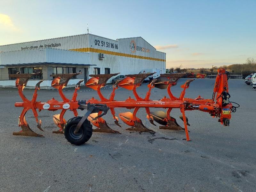
<instances>
[{"instance_id":1,"label":"entire orange reversible plough including its black depth wheel","mask_svg":"<svg viewBox=\"0 0 256 192\"><path fill-rule=\"evenodd\" d=\"M38 120L38 112L43 109L49 111L56 111L61 109L60 114L53 115L54 123L59 127L58 131L53 131L53 133L63 133L66 139L76 145L80 145L88 141L92 136L92 131L94 132L108 132L108 133L119 133L111 129L106 121L102 118L108 110L110 110L115 124L119 127L119 119L121 119L125 124L131 126L126 130L130 131L140 131L140 132L155 132L151 129L148 129L142 124L141 119L139 119L136 114L140 108L145 108L147 113L147 118L149 122L153 125L157 122L161 124L160 129L171 129L171 130L184 130L186 133L186 140L189 141L188 135L188 118L185 116L185 111L190 110L200 110L203 112L209 113L212 117L219 118L218 121L224 126L229 126L229 119L231 118L231 112L235 112L236 107L232 106L229 102L230 95L228 93L228 72L225 69L219 69L218 75L216 77L212 99L204 99L200 95L196 99L184 98L186 89L189 87L189 84L194 80L187 80L181 88L183 88L179 97L175 97L171 92L171 87L177 84L177 81L184 76L184 74L161 74L157 79L153 79L148 84L148 92L146 93L145 98L141 98L136 88L139 87L143 80L152 74L135 74L135 75L126 75L126 77L117 81L113 85L113 90L109 98L105 98L101 93L100 89L106 85L108 79L116 74L99 74L99 75L90 75L91 78L85 83L85 85L93 90L96 90L100 100L94 99L92 97L89 100L76 100L77 90L80 89L80 84L82 81L79 81L76 84L75 91L71 99L66 98L62 89L67 86L68 81L73 76L78 75L79 73L73 74L58 74L51 75L54 79L52 80L52 87L56 88L59 91L60 97L63 101L58 101L52 98L47 102L36 101L37 91L40 90L39 81L35 86L35 91L32 97L32 100L28 100L24 94L23 89L26 86L28 80L34 76L34 74L12 74L10 77L16 77L16 87L18 88L20 97L23 102L15 103L15 107L23 107L23 110L19 117L19 126L21 127L20 132L13 132L13 135L27 135L27 136L40 136L43 135L33 132L25 119L25 114L28 110L32 110L36 118L37 127L41 130L41 120ZM125 88L131 90L134 95L134 99L128 97L124 101L115 100L115 91L119 88ZM150 100L150 93L153 88L158 89L167 89L168 97L160 100ZM133 113L124 112L120 113L118 116L115 114L115 108L127 108L133 109ZM150 108L165 108L164 111L150 111ZM181 111L180 118L184 122L184 128L177 124L176 119L170 116L170 112L173 108L179 108ZM87 112L83 117L78 116L77 109L87 109ZM73 118L66 121L64 119L64 114L67 110L71 110L74 113ZM97 128L92 130L92 124Z\"/></svg>"}]
</instances>

